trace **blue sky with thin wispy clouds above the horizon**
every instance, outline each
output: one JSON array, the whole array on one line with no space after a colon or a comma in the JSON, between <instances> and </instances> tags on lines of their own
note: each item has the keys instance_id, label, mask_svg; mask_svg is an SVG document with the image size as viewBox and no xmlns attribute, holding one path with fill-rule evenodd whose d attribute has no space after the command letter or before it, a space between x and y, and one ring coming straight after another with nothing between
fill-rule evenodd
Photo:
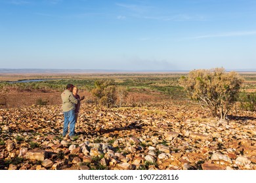
<instances>
[{"instance_id":1,"label":"blue sky with thin wispy clouds above the horizon","mask_svg":"<svg viewBox=\"0 0 256 183\"><path fill-rule=\"evenodd\" d=\"M2 69L256 69L255 0L0 0Z\"/></svg>"}]
</instances>

